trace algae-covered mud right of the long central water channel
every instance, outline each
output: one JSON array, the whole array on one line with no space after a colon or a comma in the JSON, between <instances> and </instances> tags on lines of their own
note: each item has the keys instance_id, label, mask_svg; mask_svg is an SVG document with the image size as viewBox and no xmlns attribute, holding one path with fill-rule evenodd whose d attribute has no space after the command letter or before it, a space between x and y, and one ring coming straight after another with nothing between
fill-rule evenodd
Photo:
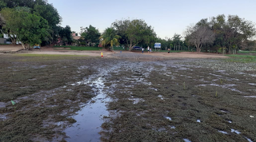
<instances>
[{"instance_id":1,"label":"algae-covered mud right of the long central water channel","mask_svg":"<svg viewBox=\"0 0 256 142\"><path fill-rule=\"evenodd\" d=\"M126 77L112 73L118 91L109 94L114 98L109 109L119 115L102 124L106 129L102 141L256 140L256 120L250 117L256 115L255 99L244 97L252 93L254 86L248 82L254 77L191 66L182 69L168 61L158 64L151 72L152 64L145 63L125 69ZM136 79L128 83L126 78L136 71L150 84Z\"/></svg>"}]
</instances>

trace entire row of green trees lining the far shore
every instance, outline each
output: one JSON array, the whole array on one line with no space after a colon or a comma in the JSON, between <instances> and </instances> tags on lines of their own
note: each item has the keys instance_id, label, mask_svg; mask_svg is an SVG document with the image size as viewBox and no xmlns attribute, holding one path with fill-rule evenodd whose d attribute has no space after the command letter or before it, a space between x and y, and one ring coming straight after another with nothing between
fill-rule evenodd
<instances>
[{"instance_id":1,"label":"entire row of green trees lining the far shore","mask_svg":"<svg viewBox=\"0 0 256 142\"><path fill-rule=\"evenodd\" d=\"M132 50L135 45L146 48L154 47L155 42L162 44L162 49L195 50L198 52L236 53L238 49L255 50L256 35L253 22L237 15L218 15L203 18L194 26L188 26L184 37L158 37L154 28L142 19L117 20L102 34L94 26L81 27L81 38L73 39L70 26L58 24L62 18L58 10L46 0L2 0L0 1L0 31L8 34L13 43L21 41L25 49L31 45L50 45L61 39L61 45L72 44L98 46L107 49L122 45Z\"/></svg>"}]
</instances>

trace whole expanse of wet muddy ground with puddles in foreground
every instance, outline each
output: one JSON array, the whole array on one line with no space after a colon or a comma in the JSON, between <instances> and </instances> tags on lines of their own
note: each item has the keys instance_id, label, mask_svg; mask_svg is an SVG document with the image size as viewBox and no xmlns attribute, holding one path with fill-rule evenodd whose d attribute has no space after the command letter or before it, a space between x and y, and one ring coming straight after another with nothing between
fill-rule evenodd
<instances>
[{"instance_id":1,"label":"whole expanse of wet muddy ground with puddles in foreground","mask_svg":"<svg viewBox=\"0 0 256 142\"><path fill-rule=\"evenodd\" d=\"M0 141L256 141L255 63L1 55L0 65Z\"/></svg>"}]
</instances>

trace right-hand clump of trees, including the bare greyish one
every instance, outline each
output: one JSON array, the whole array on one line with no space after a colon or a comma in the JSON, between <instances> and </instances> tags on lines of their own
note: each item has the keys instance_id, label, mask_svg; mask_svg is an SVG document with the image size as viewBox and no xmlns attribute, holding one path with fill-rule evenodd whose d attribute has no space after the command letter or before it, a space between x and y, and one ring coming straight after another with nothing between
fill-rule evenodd
<instances>
[{"instance_id":1,"label":"right-hand clump of trees, including the bare greyish one","mask_svg":"<svg viewBox=\"0 0 256 142\"><path fill-rule=\"evenodd\" d=\"M256 29L253 22L237 15L224 14L205 18L195 26L186 29L185 41L194 45L198 52L202 49L218 53L236 53L238 49L255 49Z\"/></svg>"}]
</instances>

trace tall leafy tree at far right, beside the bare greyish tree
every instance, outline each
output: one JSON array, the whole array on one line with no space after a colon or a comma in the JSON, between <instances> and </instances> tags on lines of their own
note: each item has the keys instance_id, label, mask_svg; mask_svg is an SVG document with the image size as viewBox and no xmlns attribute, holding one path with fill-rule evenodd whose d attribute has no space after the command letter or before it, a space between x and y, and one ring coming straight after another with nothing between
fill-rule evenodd
<instances>
[{"instance_id":1,"label":"tall leafy tree at far right, beside the bare greyish tree","mask_svg":"<svg viewBox=\"0 0 256 142\"><path fill-rule=\"evenodd\" d=\"M228 53L256 34L254 23L237 15L229 15L227 20L224 14L218 15L211 19L210 25L217 34L218 44L216 45L221 45L222 49L228 49Z\"/></svg>"}]
</instances>

